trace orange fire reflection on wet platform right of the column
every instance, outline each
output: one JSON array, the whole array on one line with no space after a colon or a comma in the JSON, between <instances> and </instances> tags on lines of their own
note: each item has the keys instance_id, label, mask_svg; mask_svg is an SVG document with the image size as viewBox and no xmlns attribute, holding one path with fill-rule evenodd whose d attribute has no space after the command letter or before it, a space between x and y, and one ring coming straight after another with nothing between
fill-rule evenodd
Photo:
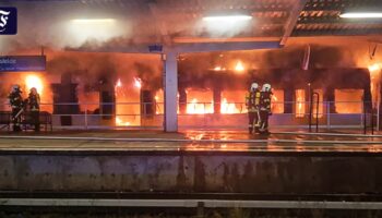
<instances>
[{"instance_id":1,"label":"orange fire reflection on wet platform right of the column","mask_svg":"<svg viewBox=\"0 0 382 218\"><path fill-rule=\"evenodd\" d=\"M382 137L365 137L349 135L299 135L299 134L270 134L249 135L246 132L186 132L191 140L267 140L264 143L211 143L199 142L188 144L188 150L231 150L231 152L382 152ZM290 140L295 142L277 142ZM310 141L307 143L306 141ZM314 142L315 141L315 142ZM373 143L373 144L370 144Z\"/></svg>"}]
</instances>

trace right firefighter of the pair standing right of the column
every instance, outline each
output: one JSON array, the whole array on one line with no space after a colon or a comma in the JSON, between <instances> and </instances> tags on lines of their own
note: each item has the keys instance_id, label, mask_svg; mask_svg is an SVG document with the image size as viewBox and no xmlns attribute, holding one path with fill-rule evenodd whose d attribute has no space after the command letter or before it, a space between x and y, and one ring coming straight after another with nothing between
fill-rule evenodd
<instances>
[{"instance_id":1,"label":"right firefighter of the pair standing right of the column","mask_svg":"<svg viewBox=\"0 0 382 218\"><path fill-rule=\"evenodd\" d=\"M259 131L260 133L270 133L268 132L268 118L272 116L271 111L271 99L272 99L272 90L271 90L271 84L264 84L261 89L261 97L260 97L260 126Z\"/></svg>"}]
</instances>

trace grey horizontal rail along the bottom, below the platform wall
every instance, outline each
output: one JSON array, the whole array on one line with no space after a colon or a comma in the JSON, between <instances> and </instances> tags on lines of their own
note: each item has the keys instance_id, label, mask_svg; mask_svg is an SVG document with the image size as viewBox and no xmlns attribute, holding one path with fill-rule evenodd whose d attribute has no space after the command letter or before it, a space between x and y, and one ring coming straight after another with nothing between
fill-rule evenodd
<instances>
[{"instance_id":1,"label":"grey horizontal rail along the bottom, below the platform wall","mask_svg":"<svg viewBox=\"0 0 382 218\"><path fill-rule=\"evenodd\" d=\"M96 198L0 198L0 206L53 207L203 207L290 209L382 209L381 202L326 201L225 201L225 199L96 199Z\"/></svg>"}]
</instances>

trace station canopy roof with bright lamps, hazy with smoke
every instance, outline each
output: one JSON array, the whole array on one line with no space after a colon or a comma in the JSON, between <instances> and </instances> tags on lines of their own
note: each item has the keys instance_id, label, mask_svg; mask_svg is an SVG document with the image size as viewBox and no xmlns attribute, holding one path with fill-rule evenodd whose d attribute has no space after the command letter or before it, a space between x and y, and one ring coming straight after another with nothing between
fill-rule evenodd
<instances>
[{"instance_id":1,"label":"station canopy roof with bright lamps, hazy with smoke","mask_svg":"<svg viewBox=\"0 0 382 218\"><path fill-rule=\"evenodd\" d=\"M19 9L19 41L77 48L103 43L106 50L211 41L284 45L290 36L382 33L381 17L342 17L382 9L380 0L3 0L0 5Z\"/></svg>"}]
</instances>

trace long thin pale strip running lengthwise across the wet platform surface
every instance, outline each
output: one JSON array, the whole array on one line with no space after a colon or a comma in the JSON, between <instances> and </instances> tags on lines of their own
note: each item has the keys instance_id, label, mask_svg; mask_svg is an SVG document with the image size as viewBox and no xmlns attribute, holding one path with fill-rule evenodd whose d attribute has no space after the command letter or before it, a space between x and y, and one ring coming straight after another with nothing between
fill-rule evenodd
<instances>
[{"instance_id":1,"label":"long thin pale strip running lengthwise across the wet platform surface","mask_svg":"<svg viewBox=\"0 0 382 218\"><path fill-rule=\"evenodd\" d=\"M0 136L0 140L75 140L112 142L168 142L168 143L307 143L307 144L368 144L382 145L368 141L308 141L308 140L182 140L182 138L118 138L118 137L65 137L65 136Z\"/></svg>"}]
</instances>

